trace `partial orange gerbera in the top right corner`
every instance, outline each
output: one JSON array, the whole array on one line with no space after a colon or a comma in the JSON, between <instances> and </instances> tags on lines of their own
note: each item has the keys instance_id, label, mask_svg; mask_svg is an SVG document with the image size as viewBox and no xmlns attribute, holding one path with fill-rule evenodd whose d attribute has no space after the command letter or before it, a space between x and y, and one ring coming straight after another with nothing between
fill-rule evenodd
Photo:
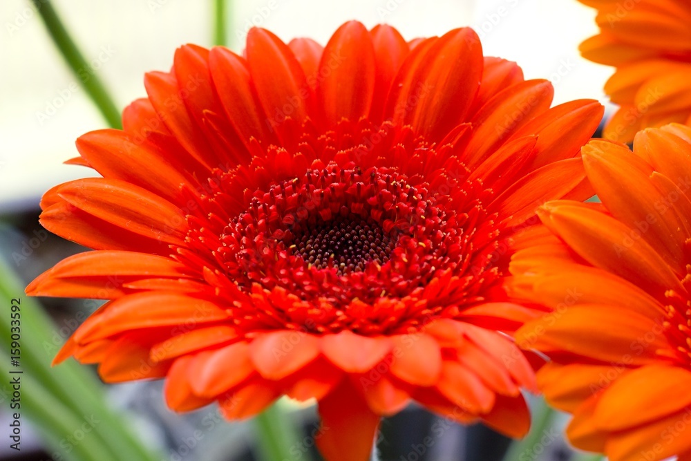
<instances>
[{"instance_id":1,"label":"partial orange gerbera in the top right corner","mask_svg":"<svg viewBox=\"0 0 691 461\"><path fill-rule=\"evenodd\" d=\"M586 59L616 66L605 92L620 109L604 136L631 142L636 131L691 124L691 3L688 0L579 0L598 8L600 33L580 45Z\"/></svg>"}]
</instances>

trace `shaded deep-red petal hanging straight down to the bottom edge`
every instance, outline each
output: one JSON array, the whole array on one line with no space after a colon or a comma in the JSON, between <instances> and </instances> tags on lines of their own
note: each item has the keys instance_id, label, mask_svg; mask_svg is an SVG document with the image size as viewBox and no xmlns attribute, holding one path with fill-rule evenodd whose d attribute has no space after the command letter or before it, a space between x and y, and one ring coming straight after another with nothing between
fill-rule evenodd
<instances>
[{"instance_id":1,"label":"shaded deep-red petal hanging straight down to the bottom edge","mask_svg":"<svg viewBox=\"0 0 691 461\"><path fill-rule=\"evenodd\" d=\"M316 444L329 461L368 461L379 427L363 397L347 380L319 402L321 435Z\"/></svg>"}]
</instances>

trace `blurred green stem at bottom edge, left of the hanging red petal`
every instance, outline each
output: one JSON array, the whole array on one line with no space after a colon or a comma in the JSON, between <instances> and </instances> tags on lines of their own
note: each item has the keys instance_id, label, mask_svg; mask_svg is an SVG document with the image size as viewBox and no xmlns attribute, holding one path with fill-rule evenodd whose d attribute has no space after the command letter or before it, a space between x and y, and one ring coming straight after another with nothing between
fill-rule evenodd
<instances>
[{"instance_id":1,"label":"blurred green stem at bottom edge, left of the hanging red petal","mask_svg":"<svg viewBox=\"0 0 691 461\"><path fill-rule=\"evenodd\" d=\"M295 426L288 418L285 403L278 401L254 418L257 433L259 459L263 461L309 461L309 453L302 453L296 457L291 447L297 446L299 440Z\"/></svg>"}]
</instances>

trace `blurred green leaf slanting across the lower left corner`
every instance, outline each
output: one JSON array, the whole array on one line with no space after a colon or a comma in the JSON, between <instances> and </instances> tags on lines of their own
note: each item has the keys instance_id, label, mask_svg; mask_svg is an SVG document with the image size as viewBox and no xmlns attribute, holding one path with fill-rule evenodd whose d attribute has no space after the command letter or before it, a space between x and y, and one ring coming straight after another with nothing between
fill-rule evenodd
<instances>
[{"instance_id":1,"label":"blurred green leaf slanting across the lower left corner","mask_svg":"<svg viewBox=\"0 0 691 461\"><path fill-rule=\"evenodd\" d=\"M127 427L124 418L105 401L102 384L88 368L67 361L55 368L53 343L56 334L53 322L41 305L23 294L17 276L0 258L0 373L20 377L21 408L17 413L28 417L48 442L50 449L66 460L118 461L155 460L153 453L142 446ZM13 299L19 299L13 303ZM10 364L12 341L12 304L19 305L21 325L19 366ZM15 327L16 327L15 323ZM16 332L17 330L15 330ZM10 370L21 374L10 374ZM3 379L9 382L10 379ZM12 396L7 385L3 393Z\"/></svg>"}]
</instances>

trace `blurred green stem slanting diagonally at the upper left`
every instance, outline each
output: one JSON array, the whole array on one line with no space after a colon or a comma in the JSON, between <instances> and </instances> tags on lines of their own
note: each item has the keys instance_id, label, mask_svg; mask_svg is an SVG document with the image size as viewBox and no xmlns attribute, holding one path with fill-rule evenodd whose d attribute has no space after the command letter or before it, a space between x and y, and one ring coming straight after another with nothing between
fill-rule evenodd
<instances>
[{"instance_id":1,"label":"blurred green stem slanting diagonally at the upper left","mask_svg":"<svg viewBox=\"0 0 691 461\"><path fill-rule=\"evenodd\" d=\"M79 79L79 82L84 86L86 93L101 111L103 117L113 128L122 128L120 111L117 110L113 99L108 95L108 91L106 91L101 80L93 73L91 66L86 62L82 53L79 52L79 48L77 48L65 26L63 26L50 0L32 0L32 2L36 6L39 15L41 15L41 19L46 24L48 34L53 39L53 43L55 43L62 57L64 57L72 72Z\"/></svg>"}]
</instances>

